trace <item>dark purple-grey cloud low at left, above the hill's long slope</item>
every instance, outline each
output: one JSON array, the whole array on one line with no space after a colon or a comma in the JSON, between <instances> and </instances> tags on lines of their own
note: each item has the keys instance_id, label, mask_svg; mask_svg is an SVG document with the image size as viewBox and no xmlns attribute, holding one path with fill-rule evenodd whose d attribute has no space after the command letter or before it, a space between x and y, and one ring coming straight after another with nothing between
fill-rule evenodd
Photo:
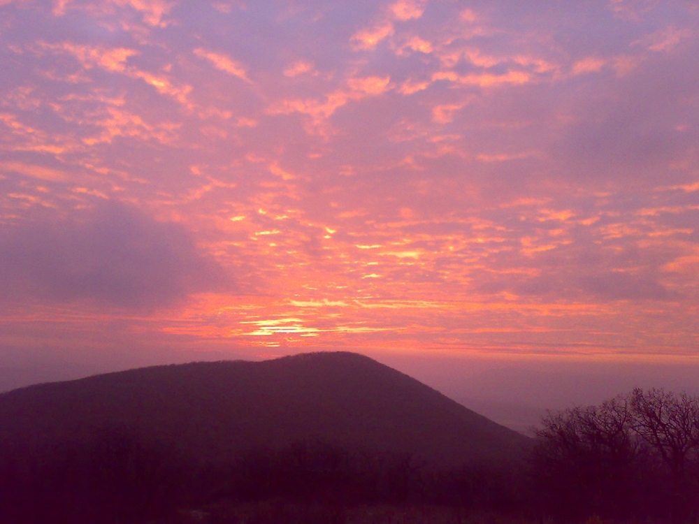
<instances>
[{"instance_id":1,"label":"dark purple-grey cloud low at left, above the hill's long slope","mask_svg":"<svg viewBox=\"0 0 699 524\"><path fill-rule=\"evenodd\" d=\"M231 286L221 266L175 223L108 203L0 233L0 297L154 310Z\"/></svg>"}]
</instances>

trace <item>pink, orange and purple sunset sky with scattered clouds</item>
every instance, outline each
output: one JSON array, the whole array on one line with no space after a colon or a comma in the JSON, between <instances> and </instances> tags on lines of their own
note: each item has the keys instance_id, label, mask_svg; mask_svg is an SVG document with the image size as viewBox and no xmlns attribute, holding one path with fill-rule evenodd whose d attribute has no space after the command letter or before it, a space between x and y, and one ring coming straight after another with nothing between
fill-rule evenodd
<instances>
[{"instance_id":1,"label":"pink, orange and purple sunset sky with scattered clouds","mask_svg":"<svg viewBox=\"0 0 699 524\"><path fill-rule=\"evenodd\" d=\"M696 1L0 0L0 71L0 361L699 370Z\"/></svg>"}]
</instances>

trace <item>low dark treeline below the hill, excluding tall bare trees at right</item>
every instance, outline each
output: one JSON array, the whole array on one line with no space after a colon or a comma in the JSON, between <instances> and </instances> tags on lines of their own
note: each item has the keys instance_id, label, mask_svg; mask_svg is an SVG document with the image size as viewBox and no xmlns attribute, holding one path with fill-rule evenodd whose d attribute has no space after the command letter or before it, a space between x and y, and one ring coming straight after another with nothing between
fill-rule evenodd
<instances>
[{"instance_id":1,"label":"low dark treeline below the hill, excluding tall bare trees at right","mask_svg":"<svg viewBox=\"0 0 699 524\"><path fill-rule=\"evenodd\" d=\"M240 503L440 504L510 510L521 503L509 464L435 472L410 454L298 442L233 463L199 464L168 446L119 430L43 449L3 449L0 523L228 522Z\"/></svg>"}]
</instances>

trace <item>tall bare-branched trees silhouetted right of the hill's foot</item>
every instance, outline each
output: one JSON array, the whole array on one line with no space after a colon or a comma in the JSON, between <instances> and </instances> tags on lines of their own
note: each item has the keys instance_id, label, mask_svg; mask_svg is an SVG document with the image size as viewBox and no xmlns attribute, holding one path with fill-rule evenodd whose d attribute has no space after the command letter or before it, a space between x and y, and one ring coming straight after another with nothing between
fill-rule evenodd
<instances>
[{"instance_id":1,"label":"tall bare-branched trees silhouetted right of the hill's foot","mask_svg":"<svg viewBox=\"0 0 699 524\"><path fill-rule=\"evenodd\" d=\"M699 398L634 389L598 406L549 414L530 474L559 518L696 522Z\"/></svg>"}]
</instances>

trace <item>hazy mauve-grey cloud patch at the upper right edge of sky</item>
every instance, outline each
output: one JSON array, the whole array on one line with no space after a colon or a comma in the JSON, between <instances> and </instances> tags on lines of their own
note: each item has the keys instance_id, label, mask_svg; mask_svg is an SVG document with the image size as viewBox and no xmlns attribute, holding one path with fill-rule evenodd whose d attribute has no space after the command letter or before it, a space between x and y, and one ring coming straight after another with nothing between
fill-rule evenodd
<instances>
[{"instance_id":1,"label":"hazy mauve-grey cloud patch at the upper right edge of sky","mask_svg":"<svg viewBox=\"0 0 699 524\"><path fill-rule=\"evenodd\" d=\"M568 102L577 121L552 147L562 169L582 180L656 184L658 173L682 180L686 175L668 166L696 159L699 137L690 125L698 117L696 50L696 43L687 44L682 52L650 57L627 78L581 85L577 100Z\"/></svg>"}]
</instances>

